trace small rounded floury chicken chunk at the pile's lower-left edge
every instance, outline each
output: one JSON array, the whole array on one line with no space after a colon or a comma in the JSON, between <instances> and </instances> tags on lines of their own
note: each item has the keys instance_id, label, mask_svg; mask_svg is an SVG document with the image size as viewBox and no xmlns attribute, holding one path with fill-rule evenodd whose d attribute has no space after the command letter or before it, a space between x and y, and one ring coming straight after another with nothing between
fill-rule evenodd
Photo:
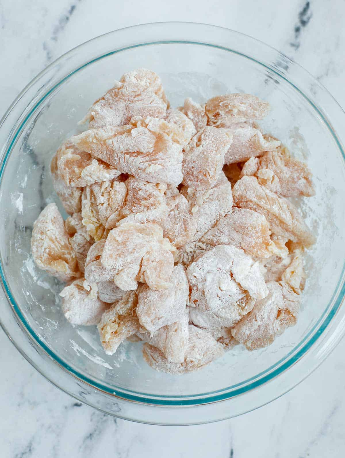
<instances>
[{"instance_id":1,"label":"small rounded floury chicken chunk at the pile's lower-left edge","mask_svg":"<svg viewBox=\"0 0 345 458\"><path fill-rule=\"evenodd\" d=\"M96 289L96 290L95 290ZM96 285L89 286L85 278L74 280L61 291L62 311L66 319L76 325L90 326L101 321L109 307L97 297Z\"/></svg>"}]
</instances>

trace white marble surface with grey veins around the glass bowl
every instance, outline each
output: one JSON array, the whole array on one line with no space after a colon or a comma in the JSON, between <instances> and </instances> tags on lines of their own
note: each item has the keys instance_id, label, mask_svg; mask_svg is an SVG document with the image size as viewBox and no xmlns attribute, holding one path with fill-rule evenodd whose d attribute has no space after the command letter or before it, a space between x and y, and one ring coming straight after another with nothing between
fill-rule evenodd
<instances>
[{"instance_id":1,"label":"white marble surface with grey veins around the glass bowl","mask_svg":"<svg viewBox=\"0 0 345 458\"><path fill-rule=\"evenodd\" d=\"M72 1L1 1L1 112L37 72L77 44L119 27L181 19L271 44L317 76L345 108L344 0ZM254 412L211 425L159 427L116 420L76 403L0 331L0 456L344 457L344 351L343 340L307 380Z\"/></svg>"}]
</instances>

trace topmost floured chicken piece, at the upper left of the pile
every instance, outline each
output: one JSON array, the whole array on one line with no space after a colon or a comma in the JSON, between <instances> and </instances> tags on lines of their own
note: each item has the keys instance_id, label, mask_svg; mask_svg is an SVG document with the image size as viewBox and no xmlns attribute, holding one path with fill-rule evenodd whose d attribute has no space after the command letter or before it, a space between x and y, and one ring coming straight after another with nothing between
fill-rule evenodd
<instances>
[{"instance_id":1,"label":"topmost floured chicken piece, at the upper left of the pile","mask_svg":"<svg viewBox=\"0 0 345 458\"><path fill-rule=\"evenodd\" d=\"M125 125L133 116L163 118L167 100L159 76L139 68L125 73L120 82L107 91L89 109L80 123L90 122L90 129Z\"/></svg>"}]
</instances>

